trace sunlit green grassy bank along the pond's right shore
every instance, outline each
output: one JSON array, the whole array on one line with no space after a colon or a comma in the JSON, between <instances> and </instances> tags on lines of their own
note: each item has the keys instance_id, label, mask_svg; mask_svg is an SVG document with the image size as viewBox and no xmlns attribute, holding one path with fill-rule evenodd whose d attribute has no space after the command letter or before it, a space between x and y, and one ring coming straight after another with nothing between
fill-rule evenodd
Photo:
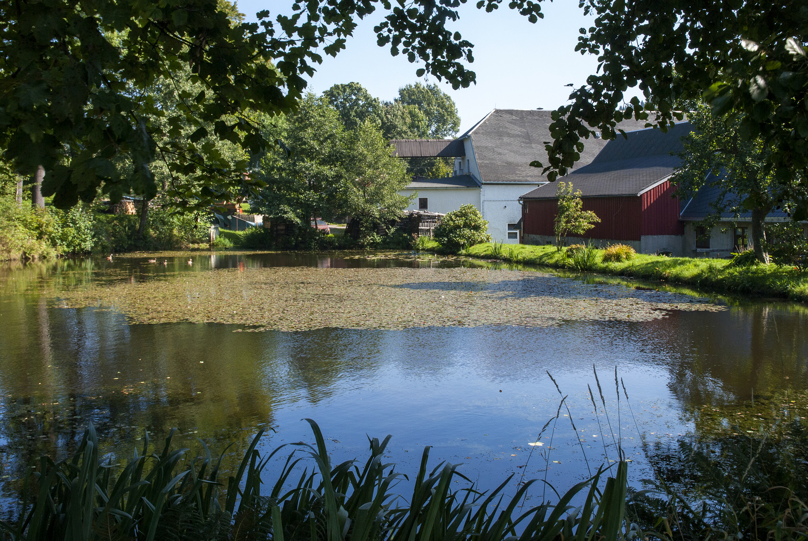
<instances>
[{"instance_id":1,"label":"sunlit green grassy bank along the pond's right shore","mask_svg":"<svg viewBox=\"0 0 808 541\"><path fill-rule=\"evenodd\" d=\"M424 241L421 248L440 250L440 245ZM621 262L604 262L603 253L604 250L595 250L588 271L680 283L717 293L808 301L808 271L794 267L774 264L733 266L727 259L666 258L643 254ZM496 245L486 242L472 246L463 254L473 258L574 269L566 253L550 245L504 245L499 251Z\"/></svg>"}]
</instances>

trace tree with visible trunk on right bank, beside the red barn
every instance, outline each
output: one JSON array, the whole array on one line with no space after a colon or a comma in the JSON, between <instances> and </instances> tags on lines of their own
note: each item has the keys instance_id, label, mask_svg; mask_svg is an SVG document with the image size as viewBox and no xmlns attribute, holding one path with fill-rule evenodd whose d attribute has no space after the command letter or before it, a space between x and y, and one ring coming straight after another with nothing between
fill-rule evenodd
<instances>
[{"instance_id":1,"label":"tree with visible trunk on right bank, beside the red barn","mask_svg":"<svg viewBox=\"0 0 808 541\"><path fill-rule=\"evenodd\" d=\"M682 165L675 171L678 194L687 197L708 187L718 189L717 199L710 203L713 215L705 221L709 228L722 212L734 212L735 216L751 212L755 258L768 263L764 220L772 208L788 201L789 191L797 193L799 187L776 181L766 167L771 149L760 137L749 140L741 136L740 120L727 122L713 115L704 103L693 108L688 120L695 131L684 137Z\"/></svg>"}]
</instances>

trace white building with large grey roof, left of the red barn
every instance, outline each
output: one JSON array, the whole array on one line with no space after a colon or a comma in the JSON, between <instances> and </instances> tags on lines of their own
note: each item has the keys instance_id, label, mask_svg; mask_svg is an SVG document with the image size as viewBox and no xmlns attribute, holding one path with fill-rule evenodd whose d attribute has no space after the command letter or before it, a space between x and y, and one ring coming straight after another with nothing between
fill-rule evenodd
<instances>
[{"instance_id":1,"label":"white building with large grey roof, left of the red barn","mask_svg":"<svg viewBox=\"0 0 808 541\"><path fill-rule=\"evenodd\" d=\"M455 158L454 176L416 177L400 193L417 194L410 209L430 212L451 212L471 203L488 220L488 233L494 241L519 243L520 195L547 182L540 168L528 164L533 160L547 163L545 145L552 140L550 112L494 109L454 140L390 141L398 157ZM621 124L625 130L641 127L630 121ZM600 138L585 140L576 168L586 166L605 144Z\"/></svg>"}]
</instances>

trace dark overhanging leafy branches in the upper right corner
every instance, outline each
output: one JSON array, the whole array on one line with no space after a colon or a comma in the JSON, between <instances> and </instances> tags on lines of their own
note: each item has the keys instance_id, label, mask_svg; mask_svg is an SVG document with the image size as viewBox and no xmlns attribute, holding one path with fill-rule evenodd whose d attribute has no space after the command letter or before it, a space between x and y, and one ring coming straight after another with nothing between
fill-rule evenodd
<instances>
[{"instance_id":1,"label":"dark overhanging leafy branches in the upper right corner","mask_svg":"<svg viewBox=\"0 0 808 541\"><path fill-rule=\"evenodd\" d=\"M617 136L624 118L666 130L687 111L684 100L707 100L713 113L737 123L743 140L768 149L764 174L783 187L808 182L808 2L786 0L582 0L595 14L576 50L599 59L598 73L553 111L545 173L552 181L580 158L583 139ZM637 87L645 106L625 92ZM625 109L621 111L621 107ZM652 118L653 117L653 118ZM544 166L538 161L534 166ZM808 217L794 200L793 218Z\"/></svg>"}]
</instances>

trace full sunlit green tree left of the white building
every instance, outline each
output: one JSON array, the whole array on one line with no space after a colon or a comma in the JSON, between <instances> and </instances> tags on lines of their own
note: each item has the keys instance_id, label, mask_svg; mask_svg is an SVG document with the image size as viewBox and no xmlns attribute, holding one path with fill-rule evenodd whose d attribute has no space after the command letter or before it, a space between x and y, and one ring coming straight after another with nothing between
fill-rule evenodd
<instances>
[{"instance_id":1,"label":"full sunlit green tree left of the white building","mask_svg":"<svg viewBox=\"0 0 808 541\"><path fill-rule=\"evenodd\" d=\"M307 94L275 135L292 153L263 159L267 187L255 203L271 220L297 225L303 237L314 233L314 218L351 216L351 236L363 242L409 204L398 195L409 182L406 166L392 156L376 124L346 130L324 96Z\"/></svg>"}]
</instances>

